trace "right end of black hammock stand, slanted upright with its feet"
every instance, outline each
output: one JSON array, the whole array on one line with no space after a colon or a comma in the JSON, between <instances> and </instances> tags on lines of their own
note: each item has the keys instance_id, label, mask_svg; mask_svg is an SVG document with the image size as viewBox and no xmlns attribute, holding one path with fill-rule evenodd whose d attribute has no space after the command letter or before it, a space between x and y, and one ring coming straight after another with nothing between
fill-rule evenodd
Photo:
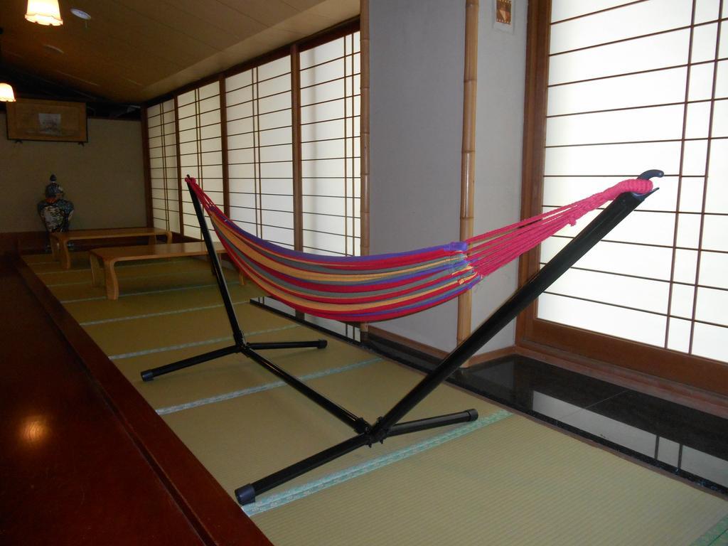
<instances>
[{"instance_id":1,"label":"right end of black hammock stand, slanted upright with its feet","mask_svg":"<svg viewBox=\"0 0 728 546\"><path fill-rule=\"evenodd\" d=\"M652 172L648 172L652 173ZM644 173L640 178L645 178ZM660 173L661 175L661 173ZM652 192L650 192L652 193ZM400 422L415 405L438 387L457 368L465 363L475 352L483 347L493 336L513 320L518 313L526 309L538 296L540 296L558 277L574 265L579 258L585 255L590 248L596 245L614 226L629 215L649 194L621 194L620 197L606 207L574 240L554 256L548 264L531 277L521 288L513 293L499 309L491 314L470 336L459 344L453 352L445 357L436 368L422 379L402 400L397 402L387 414L380 417L373 426L367 426L359 434L331 446L317 454L307 457L289 467L274 472L253 483L235 490L237 501L241 505L254 502L256 495L269 491L282 483L314 470L314 468L338 459L351 451L363 446L372 446L373 443L382 442L389 436L408 434L419 430L442 427L448 424L474 421L478 419L475 410L466 410L458 414L430 417L417 421Z\"/></svg>"}]
</instances>

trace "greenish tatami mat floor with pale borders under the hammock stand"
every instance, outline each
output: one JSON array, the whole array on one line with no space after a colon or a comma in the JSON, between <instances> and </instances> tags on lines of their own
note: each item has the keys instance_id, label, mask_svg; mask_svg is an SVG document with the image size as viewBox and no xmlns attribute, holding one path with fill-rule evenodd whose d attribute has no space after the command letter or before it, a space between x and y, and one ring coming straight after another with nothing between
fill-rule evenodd
<instances>
[{"instance_id":1,"label":"greenish tatami mat floor with pale borders under the hammock stand","mask_svg":"<svg viewBox=\"0 0 728 546\"><path fill-rule=\"evenodd\" d=\"M206 262L119 268L121 295L93 287L87 255L34 272L208 470L234 488L350 438L240 355L143 383L139 373L231 343ZM248 304L261 293L227 272L251 341L323 337ZM336 338L265 355L370 422L421 374ZM476 408L478 422L389 438L245 507L277 545L726 545L728 502L443 385L407 419Z\"/></svg>"}]
</instances>

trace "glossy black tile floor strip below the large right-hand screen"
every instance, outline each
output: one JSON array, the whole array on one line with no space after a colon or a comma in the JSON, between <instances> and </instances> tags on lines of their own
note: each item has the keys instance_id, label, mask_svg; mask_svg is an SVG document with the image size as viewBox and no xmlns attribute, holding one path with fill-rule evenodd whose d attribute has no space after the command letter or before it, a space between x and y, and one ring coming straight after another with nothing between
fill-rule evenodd
<instances>
[{"instance_id":1,"label":"glossy black tile floor strip below the large right-hand screen","mask_svg":"<svg viewBox=\"0 0 728 546\"><path fill-rule=\"evenodd\" d=\"M417 368L432 366L393 347L376 350ZM519 356L456 371L451 381L728 495L727 419Z\"/></svg>"}]
</instances>

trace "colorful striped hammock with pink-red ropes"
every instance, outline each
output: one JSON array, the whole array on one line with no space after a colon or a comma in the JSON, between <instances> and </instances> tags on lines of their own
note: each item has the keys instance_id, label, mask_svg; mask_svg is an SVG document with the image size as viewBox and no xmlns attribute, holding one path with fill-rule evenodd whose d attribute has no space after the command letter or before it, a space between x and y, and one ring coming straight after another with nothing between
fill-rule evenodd
<instances>
[{"instance_id":1,"label":"colorful striped hammock with pink-red ropes","mask_svg":"<svg viewBox=\"0 0 728 546\"><path fill-rule=\"evenodd\" d=\"M409 252L321 256L274 245L240 229L186 177L230 258L260 288L301 312L371 323L429 309L470 290L488 274L625 191L645 194L652 182L625 180L571 205L477 235Z\"/></svg>"}]
</instances>

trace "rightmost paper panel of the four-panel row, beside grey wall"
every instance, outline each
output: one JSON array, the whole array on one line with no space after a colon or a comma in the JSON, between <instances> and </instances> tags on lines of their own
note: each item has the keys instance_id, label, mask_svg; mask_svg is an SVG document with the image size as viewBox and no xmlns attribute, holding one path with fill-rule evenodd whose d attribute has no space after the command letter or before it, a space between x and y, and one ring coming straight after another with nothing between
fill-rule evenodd
<instances>
[{"instance_id":1,"label":"rightmost paper panel of the four-panel row, beside grey wall","mask_svg":"<svg viewBox=\"0 0 728 546\"><path fill-rule=\"evenodd\" d=\"M358 256L359 33L301 52L300 66L304 250Z\"/></svg>"}]
</instances>

